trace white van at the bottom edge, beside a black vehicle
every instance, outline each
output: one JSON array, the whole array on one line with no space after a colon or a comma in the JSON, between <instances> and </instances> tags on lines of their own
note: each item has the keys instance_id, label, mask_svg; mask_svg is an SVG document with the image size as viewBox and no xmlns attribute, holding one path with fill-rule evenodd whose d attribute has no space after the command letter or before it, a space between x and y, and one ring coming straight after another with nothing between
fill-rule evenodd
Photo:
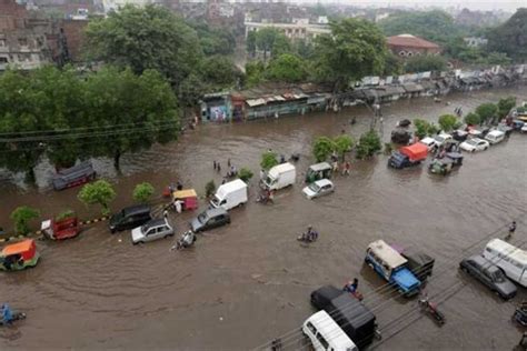
<instances>
[{"instance_id":1,"label":"white van at the bottom edge, beside a black vehicle","mask_svg":"<svg viewBox=\"0 0 527 351\"><path fill-rule=\"evenodd\" d=\"M358 351L357 345L326 312L319 311L302 324L302 332L309 338L316 351Z\"/></svg>"}]
</instances>

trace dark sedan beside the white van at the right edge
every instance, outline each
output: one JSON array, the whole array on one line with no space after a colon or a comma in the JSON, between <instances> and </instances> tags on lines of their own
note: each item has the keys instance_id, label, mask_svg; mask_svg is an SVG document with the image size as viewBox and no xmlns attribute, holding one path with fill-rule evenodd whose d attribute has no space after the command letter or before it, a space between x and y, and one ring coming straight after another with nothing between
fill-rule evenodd
<instances>
[{"instance_id":1,"label":"dark sedan beside the white van at the right edge","mask_svg":"<svg viewBox=\"0 0 527 351\"><path fill-rule=\"evenodd\" d=\"M483 255L473 255L463 260L459 263L459 268L483 282L504 300L516 295L516 285L505 277L497 265Z\"/></svg>"}]
</instances>

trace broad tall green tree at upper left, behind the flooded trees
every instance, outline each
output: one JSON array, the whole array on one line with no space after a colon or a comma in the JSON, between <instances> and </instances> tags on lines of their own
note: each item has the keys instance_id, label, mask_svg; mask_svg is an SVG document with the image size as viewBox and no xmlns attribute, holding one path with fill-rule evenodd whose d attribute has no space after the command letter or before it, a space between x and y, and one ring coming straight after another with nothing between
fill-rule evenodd
<instances>
[{"instance_id":1,"label":"broad tall green tree at upper left, behind the flooded trees","mask_svg":"<svg viewBox=\"0 0 527 351\"><path fill-rule=\"evenodd\" d=\"M203 56L196 31L170 10L153 4L127 4L107 18L95 18L84 38L88 58L130 67L137 74L155 69L172 86L181 83Z\"/></svg>"}]
</instances>

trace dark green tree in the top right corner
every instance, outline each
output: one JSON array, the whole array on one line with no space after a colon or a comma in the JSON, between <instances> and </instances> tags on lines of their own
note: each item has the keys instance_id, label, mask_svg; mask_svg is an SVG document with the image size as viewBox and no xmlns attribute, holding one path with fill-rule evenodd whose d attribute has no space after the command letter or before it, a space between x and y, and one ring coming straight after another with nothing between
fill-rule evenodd
<instances>
[{"instance_id":1,"label":"dark green tree in the top right corner","mask_svg":"<svg viewBox=\"0 0 527 351\"><path fill-rule=\"evenodd\" d=\"M488 32L488 50L515 61L527 59L527 8L519 8L505 23Z\"/></svg>"}]
</instances>

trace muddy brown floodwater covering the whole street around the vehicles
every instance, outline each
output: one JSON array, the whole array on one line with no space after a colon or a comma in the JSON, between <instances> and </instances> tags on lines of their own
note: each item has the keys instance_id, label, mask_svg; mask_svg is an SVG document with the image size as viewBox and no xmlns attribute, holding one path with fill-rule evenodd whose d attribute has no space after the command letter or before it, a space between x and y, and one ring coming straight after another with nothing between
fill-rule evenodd
<instances>
[{"instance_id":1,"label":"muddy brown floodwater covering the whole street around the vehicles","mask_svg":"<svg viewBox=\"0 0 527 351\"><path fill-rule=\"evenodd\" d=\"M449 96L445 100L450 106L430 99L386 106L384 139L402 118L437 120L457 106L467 112L509 94L527 100L527 88ZM355 126L349 124L352 116ZM292 189L280 191L275 204L261 205L255 203L252 180L250 201L232 211L232 223L199 237L193 249L170 252L172 242L163 240L133 247L129 232L112 235L106 223L73 240L39 241L41 261L34 269L0 275L0 300L28 313L14 328L0 330L0 349L246 350L290 331L284 342L292 350L300 345L300 324L314 312L309 293L358 277L365 303L384 332L378 349L510 350L520 338L510 315L525 290L503 302L460 275L457 263L481 251L493 231L505 235L511 219L520 218L513 242L527 242L527 134L514 133L485 152L466 154L459 171L446 178L428 174L425 167L388 169L386 156L354 160L351 176L336 177L334 194L305 199L300 173L312 163L314 138L342 129L357 137L369 120L365 108L350 108L339 114L202 126L178 143L125 156L120 176L110 161L98 160L99 174L118 190L112 203L117 210L131 203L131 190L141 181L160 192L180 177L202 193L208 180L221 181L212 160L226 170L230 158L258 174L264 150L301 153ZM82 217L97 213L78 202L79 189L50 190L44 177L49 169L42 167L38 174L38 189L18 187L19 178L6 176L0 223L8 223L9 213L21 204L41 209L42 217L67 208ZM178 232L193 214L171 218ZM295 240L307 224L320 231L319 241L308 248ZM429 295L443 300L457 292L440 305L447 318L443 328L425 317L399 332L420 314L409 314L416 300L380 293L382 280L362 267L367 244L379 238L436 258Z\"/></svg>"}]
</instances>

